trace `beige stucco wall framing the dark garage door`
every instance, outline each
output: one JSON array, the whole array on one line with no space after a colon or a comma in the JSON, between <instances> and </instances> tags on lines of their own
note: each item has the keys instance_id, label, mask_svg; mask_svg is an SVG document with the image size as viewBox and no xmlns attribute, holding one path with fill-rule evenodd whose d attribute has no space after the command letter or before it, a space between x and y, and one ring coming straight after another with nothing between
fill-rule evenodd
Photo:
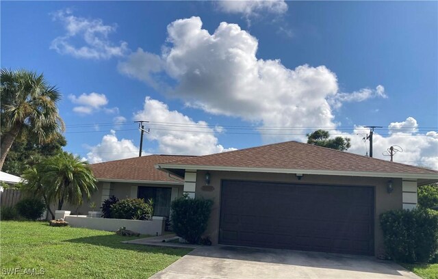
<instances>
[{"instance_id":1,"label":"beige stucco wall framing the dark garage door","mask_svg":"<svg viewBox=\"0 0 438 279\"><path fill-rule=\"evenodd\" d=\"M274 181L294 184L318 184L318 185L349 185L349 186L370 186L374 187L374 253L376 256L384 252L383 234L379 224L378 216L391 209L402 209L402 181L392 179L394 191L387 193L387 182L391 178L369 178L351 176L316 176L305 174L300 181L295 174L267 174L257 172L214 172L210 171L212 191L201 189L205 185L205 171L198 170L196 177L196 198L206 198L214 201L209 224L205 235L211 237L213 244L218 243L219 220L220 220L220 186L221 181L243 180L243 181ZM211 189L210 189L211 190Z\"/></svg>"}]
</instances>

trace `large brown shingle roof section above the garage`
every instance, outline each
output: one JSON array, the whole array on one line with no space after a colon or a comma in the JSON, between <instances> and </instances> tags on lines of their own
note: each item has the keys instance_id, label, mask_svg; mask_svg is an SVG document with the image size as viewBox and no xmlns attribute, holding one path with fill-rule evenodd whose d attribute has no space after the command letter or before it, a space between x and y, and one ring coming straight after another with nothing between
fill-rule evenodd
<instances>
[{"instance_id":1,"label":"large brown shingle roof section above the garage","mask_svg":"<svg viewBox=\"0 0 438 279\"><path fill-rule=\"evenodd\" d=\"M437 174L435 170L393 163L300 142L281 142L241 150L183 159L171 165L207 165L289 170L332 170L340 172L400 172ZM168 164L166 164L168 165Z\"/></svg>"}]
</instances>

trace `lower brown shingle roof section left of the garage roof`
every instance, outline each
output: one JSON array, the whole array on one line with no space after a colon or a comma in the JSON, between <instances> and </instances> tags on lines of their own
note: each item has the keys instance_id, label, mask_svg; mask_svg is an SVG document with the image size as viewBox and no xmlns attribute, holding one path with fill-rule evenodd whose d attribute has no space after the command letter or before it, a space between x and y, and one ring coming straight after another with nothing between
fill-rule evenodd
<instances>
[{"instance_id":1,"label":"lower brown shingle roof section left of the garage roof","mask_svg":"<svg viewBox=\"0 0 438 279\"><path fill-rule=\"evenodd\" d=\"M170 181L175 183L175 180L169 178L168 174L157 170L155 165L157 163L168 163L191 157L192 156L150 155L108 161L105 163L94 163L91 164L90 167L98 180Z\"/></svg>"}]
</instances>

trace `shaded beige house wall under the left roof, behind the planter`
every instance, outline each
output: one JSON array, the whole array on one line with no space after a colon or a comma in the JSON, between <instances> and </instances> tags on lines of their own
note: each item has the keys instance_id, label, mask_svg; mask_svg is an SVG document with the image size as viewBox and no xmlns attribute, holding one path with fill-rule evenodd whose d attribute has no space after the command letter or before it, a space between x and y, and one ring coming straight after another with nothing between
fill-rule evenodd
<instances>
[{"instance_id":1,"label":"shaded beige house wall under the left roof, behind the planter","mask_svg":"<svg viewBox=\"0 0 438 279\"><path fill-rule=\"evenodd\" d=\"M96 209L94 211L100 211L100 207L102 206L102 189L103 184L107 182L99 182L97 183L98 191L96 191L90 200L84 200L83 204L79 207L71 206L70 204L65 204L62 207L62 210L71 211L72 215L88 215L88 211L92 211L90 209L90 203L96 203ZM175 200L175 198L179 198L183 196L183 185L167 185L167 184L149 184L149 183L115 183L112 182L110 185L110 196L116 196L119 200L123 200L125 198L137 198L137 189L139 186L146 187L171 187L172 188L172 196L171 200ZM55 211L53 211L55 212Z\"/></svg>"}]
</instances>

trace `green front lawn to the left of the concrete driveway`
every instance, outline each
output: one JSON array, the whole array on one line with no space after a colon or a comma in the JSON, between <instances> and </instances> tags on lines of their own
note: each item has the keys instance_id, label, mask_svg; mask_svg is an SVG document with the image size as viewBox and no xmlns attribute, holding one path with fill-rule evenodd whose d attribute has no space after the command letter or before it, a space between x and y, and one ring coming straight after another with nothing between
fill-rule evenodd
<instances>
[{"instance_id":1,"label":"green front lawn to the left of the concrete driveway","mask_svg":"<svg viewBox=\"0 0 438 279\"><path fill-rule=\"evenodd\" d=\"M47 278L148 278L190 252L120 243L130 239L138 237L51 227L47 222L2 221L0 267L43 268Z\"/></svg>"}]
</instances>

